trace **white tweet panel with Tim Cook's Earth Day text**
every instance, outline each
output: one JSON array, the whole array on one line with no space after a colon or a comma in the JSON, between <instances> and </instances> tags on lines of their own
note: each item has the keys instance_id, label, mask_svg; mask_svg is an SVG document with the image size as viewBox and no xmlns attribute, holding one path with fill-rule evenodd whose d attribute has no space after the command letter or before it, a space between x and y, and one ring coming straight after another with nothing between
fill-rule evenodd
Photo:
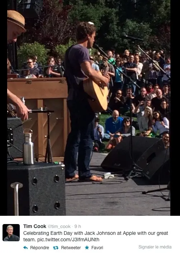
<instances>
[{"instance_id":1,"label":"white tweet panel with Tim Cook's Earth Day text","mask_svg":"<svg viewBox=\"0 0 180 256\"><path fill-rule=\"evenodd\" d=\"M5 216L1 218L1 251L6 253L10 246L15 255L177 255L179 219L169 216Z\"/></svg>"}]
</instances>

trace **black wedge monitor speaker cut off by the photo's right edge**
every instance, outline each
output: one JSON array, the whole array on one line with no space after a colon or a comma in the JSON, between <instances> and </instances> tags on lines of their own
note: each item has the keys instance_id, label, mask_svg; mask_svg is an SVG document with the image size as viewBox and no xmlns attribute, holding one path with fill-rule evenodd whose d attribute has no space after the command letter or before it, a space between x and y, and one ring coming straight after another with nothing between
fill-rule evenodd
<instances>
[{"instance_id":1,"label":"black wedge monitor speaker cut off by the photo's right edge","mask_svg":"<svg viewBox=\"0 0 180 256\"><path fill-rule=\"evenodd\" d=\"M169 149L154 157L143 169L142 174L153 184L165 184L170 181Z\"/></svg>"}]
</instances>

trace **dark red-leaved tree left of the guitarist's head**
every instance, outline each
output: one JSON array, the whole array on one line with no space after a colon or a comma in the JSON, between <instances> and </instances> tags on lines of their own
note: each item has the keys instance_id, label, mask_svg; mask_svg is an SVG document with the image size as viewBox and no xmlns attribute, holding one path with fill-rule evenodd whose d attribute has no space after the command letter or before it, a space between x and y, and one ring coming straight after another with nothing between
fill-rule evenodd
<instances>
[{"instance_id":1,"label":"dark red-leaved tree left of the guitarist's head","mask_svg":"<svg viewBox=\"0 0 180 256\"><path fill-rule=\"evenodd\" d=\"M28 42L41 42L53 51L60 45L74 38L74 26L69 22L71 5L63 6L62 0L44 0L41 16L35 24L27 28Z\"/></svg>"}]
</instances>

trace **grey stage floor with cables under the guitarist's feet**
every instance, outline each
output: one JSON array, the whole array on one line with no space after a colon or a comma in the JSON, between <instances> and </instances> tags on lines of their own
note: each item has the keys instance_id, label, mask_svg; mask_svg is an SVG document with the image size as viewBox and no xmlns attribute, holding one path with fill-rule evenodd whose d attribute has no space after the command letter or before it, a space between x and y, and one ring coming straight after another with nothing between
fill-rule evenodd
<instances>
[{"instance_id":1,"label":"grey stage floor with cables under the guitarist's feet","mask_svg":"<svg viewBox=\"0 0 180 256\"><path fill-rule=\"evenodd\" d=\"M93 174L105 172L100 168L105 156L93 154ZM165 201L161 192L142 195L142 191L157 188L158 185L148 185L145 178L125 181L123 177L115 177L105 179L103 184L66 183L66 215L170 215L170 201ZM168 195L168 191L162 193Z\"/></svg>"}]
</instances>

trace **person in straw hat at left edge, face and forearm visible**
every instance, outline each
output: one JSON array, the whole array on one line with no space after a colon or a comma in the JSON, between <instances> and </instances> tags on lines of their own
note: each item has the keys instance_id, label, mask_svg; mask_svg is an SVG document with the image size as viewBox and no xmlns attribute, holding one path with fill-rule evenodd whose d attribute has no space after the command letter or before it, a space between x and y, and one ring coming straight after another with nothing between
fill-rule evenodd
<instances>
[{"instance_id":1,"label":"person in straw hat at left edge, face and forearm visible","mask_svg":"<svg viewBox=\"0 0 180 256\"><path fill-rule=\"evenodd\" d=\"M17 37L26 30L24 28L25 19L24 17L14 10L8 10L8 28L7 28L7 42L14 43ZM18 117L22 120L28 119L28 108L23 102L13 93L8 90L7 92L8 103L13 104L16 107Z\"/></svg>"}]
</instances>

